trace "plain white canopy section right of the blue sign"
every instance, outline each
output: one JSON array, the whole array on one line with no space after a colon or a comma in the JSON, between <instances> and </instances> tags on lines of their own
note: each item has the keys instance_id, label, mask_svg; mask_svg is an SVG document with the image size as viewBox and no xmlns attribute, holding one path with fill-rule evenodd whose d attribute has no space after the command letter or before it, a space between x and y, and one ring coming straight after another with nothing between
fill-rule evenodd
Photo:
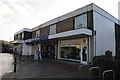
<instances>
[{"instance_id":1,"label":"plain white canopy section right of the blue sign","mask_svg":"<svg viewBox=\"0 0 120 80\"><path fill-rule=\"evenodd\" d=\"M48 39L68 37L68 36L79 35L79 34L92 36L92 31L89 29L81 28L81 29L76 29L72 31L66 31L66 32L49 35Z\"/></svg>"}]
</instances>

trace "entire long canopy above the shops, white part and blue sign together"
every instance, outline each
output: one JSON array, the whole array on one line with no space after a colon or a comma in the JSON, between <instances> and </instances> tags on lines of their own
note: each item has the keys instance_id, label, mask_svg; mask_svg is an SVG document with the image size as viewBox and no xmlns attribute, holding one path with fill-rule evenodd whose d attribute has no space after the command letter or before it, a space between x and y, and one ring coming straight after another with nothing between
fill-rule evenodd
<instances>
[{"instance_id":1,"label":"entire long canopy above the shops, white part and blue sign together","mask_svg":"<svg viewBox=\"0 0 120 80\"><path fill-rule=\"evenodd\" d=\"M36 37L36 38L32 38L32 39L27 39L27 40L16 40L16 41L13 41L12 43L31 43L31 42L34 42L34 41L69 37L69 36L75 36L75 35L92 36L92 30L89 30L89 29L86 29L86 28L81 28L81 29L61 32L61 33L57 33L57 34L53 34L53 35L44 35L44 36L40 36L40 37Z\"/></svg>"}]
</instances>

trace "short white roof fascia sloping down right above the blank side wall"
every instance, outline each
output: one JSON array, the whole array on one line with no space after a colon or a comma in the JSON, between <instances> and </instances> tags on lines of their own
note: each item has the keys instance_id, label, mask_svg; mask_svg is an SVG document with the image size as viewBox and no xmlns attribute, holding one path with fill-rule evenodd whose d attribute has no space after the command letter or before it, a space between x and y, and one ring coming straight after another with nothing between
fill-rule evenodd
<instances>
[{"instance_id":1,"label":"short white roof fascia sloping down right above the blank side wall","mask_svg":"<svg viewBox=\"0 0 120 80\"><path fill-rule=\"evenodd\" d=\"M109 14L108 12L106 12L105 10L103 10L102 8L98 7L95 4L93 4L93 10L96 11L97 13L101 14L102 16L108 18L112 22L115 22L118 24L119 21L117 18L115 18L114 16L112 16L111 14Z\"/></svg>"}]
</instances>

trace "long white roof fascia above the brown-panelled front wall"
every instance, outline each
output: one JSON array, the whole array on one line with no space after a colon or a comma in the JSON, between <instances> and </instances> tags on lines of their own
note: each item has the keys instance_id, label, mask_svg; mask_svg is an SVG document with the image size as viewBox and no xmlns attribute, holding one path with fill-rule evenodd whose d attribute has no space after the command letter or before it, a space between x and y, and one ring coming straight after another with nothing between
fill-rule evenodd
<instances>
[{"instance_id":1,"label":"long white roof fascia above the brown-panelled front wall","mask_svg":"<svg viewBox=\"0 0 120 80\"><path fill-rule=\"evenodd\" d=\"M57 23L59 21L63 21L65 19L80 15L82 13L85 13L85 12L88 12L88 11L91 11L91 10L92 10L92 4L86 5L86 6L84 6L82 8L79 8L79 9L77 9L75 11L72 11L72 12L67 13L65 15L62 15L60 17L52 19L52 20L50 20L50 21L48 21L46 23L43 23L40 26L37 26L37 27L33 28L32 31L38 30L38 29L43 28L43 27L47 27L47 26L55 24L55 23Z\"/></svg>"}]
</instances>

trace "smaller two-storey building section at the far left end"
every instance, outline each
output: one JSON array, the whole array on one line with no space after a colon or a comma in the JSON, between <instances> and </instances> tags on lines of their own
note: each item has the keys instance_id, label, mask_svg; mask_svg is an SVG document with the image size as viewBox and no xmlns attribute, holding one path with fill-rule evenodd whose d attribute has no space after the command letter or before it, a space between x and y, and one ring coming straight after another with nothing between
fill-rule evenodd
<instances>
[{"instance_id":1,"label":"smaller two-storey building section at the far left end","mask_svg":"<svg viewBox=\"0 0 120 80\"><path fill-rule=\"evenodd\" d=\"M13 52L20 55L31 55L31 46L25 43L25 40L31 39L32 32L31 29L24 28L14 34L14 44Z\"/></svg>"}]
</instances>

